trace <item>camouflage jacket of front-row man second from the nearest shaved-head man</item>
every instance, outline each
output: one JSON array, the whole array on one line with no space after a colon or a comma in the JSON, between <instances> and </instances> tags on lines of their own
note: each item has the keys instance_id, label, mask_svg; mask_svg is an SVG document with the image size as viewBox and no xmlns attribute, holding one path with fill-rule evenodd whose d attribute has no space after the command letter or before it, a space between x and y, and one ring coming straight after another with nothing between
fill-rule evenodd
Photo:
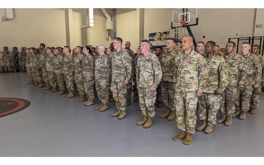
<instances>
[{"instance_id":1,"label":"camouflage jacket of front-row man second from the nearest shaved-head man","mask_svg":"<svg viewBox=\"0 0 264 165\"><path fill-rule=\"evenodd\" d=\"M157 88L162 78L162 71L158 57L149 52L144 57L142 54L138 58L137 65L137 84L142 88Z\"/></svg>"}]
</instances>

